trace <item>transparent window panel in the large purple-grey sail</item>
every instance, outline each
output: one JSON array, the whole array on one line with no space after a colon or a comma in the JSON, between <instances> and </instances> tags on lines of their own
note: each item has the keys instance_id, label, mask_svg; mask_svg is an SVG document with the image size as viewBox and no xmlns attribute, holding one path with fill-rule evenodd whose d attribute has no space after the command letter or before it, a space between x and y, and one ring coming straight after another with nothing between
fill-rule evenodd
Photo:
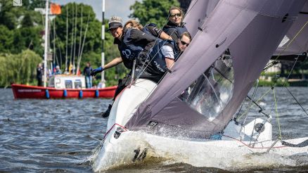
<instances>
[{"instance_id":1,"label":"transparent window panel in the large purple-grey sail","mask_svg":"<svg viewBox=\"0 0 308 173\"><path fill-rule=\"evenodd\" d=\"M222 112L232 95L233 63L231 56L223 55L183 91L179 98L212 121Z\"/></svg>"}]
</instances>

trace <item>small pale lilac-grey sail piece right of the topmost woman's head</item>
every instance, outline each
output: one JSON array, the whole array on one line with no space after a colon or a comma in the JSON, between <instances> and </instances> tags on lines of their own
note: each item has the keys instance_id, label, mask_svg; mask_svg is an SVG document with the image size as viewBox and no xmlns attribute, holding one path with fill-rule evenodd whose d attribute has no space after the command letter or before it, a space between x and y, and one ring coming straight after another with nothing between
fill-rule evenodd
<instances>
[{"instance_id":1,"label":"small pale lilac-grey sail piece right of the topmost woman's head","mask_svg":"<svg viewBox=\"0 0 308 173\"><path fill-rule=\"evenodd\" d=\"M192 37L198 32L198 27L209 17L218 2L219 0L191 1L184 23L186 23L186 28Z\"/></svg>"}]
</instances>

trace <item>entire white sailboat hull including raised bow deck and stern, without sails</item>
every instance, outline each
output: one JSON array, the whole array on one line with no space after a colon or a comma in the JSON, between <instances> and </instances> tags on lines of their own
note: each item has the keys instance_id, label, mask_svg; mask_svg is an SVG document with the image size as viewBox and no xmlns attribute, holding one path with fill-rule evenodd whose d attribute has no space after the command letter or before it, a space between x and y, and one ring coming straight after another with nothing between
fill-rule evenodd
<instances>
[{"instance_id":1,"label":"entire white sailboat hull including raised bow deck and stern, without sails","mask_svg":"<svg viewBox=\"0 0 308 173\"><path fill-rule=\"evenodd\" d=\"M124 132L121 125L126 124L136 107L146 99L146 96L155 87L156 85L153 82L139 80L135 86L125 89L118 96L110 112L108 135L94 158L93 168L95 172L131 164L143 160L144 157L164 158L196 167L233 169L240 165L243 167L259 165L295 166L294 160L281 158L281 156L308 156L308 146L288 147L283 146L281 141L276 143L272 141L271 124L262 119L250 122L243 129L230 123L225 129L226 136L223 136L222 140L174 139L143 132ZM259 122L264 122L264 132L261 134L252 133L253 125ZM120 136L115 135L116 131L120 132L118 133ZM254 138L258 136L259 143L256 143L255 146L249 146L250 138L248 136L250 134L253 134ZM243 141L240 141L240 139ZM307 139L308 137L285 141L297 144ZM274 143L274 147L271 148ZM267 153L268 148L271 148L271 150Z\"/></svg>"}]
</instances>

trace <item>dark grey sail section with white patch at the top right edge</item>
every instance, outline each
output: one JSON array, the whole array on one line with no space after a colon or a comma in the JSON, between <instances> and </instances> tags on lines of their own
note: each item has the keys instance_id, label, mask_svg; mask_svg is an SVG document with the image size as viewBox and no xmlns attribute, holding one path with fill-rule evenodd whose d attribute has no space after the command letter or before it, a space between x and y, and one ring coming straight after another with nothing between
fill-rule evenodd
<instances>
[{"instance_id":1,"label":"dark grey sail section with white patch at the top right edge","mask_svg":"<svg viewBox=\"0 0 308 173\"><path fill-rule=\"evenodd\" d=\"M293 39L294 38L294 39ZM308 1L304 4L297 20L285 34L275 55L294 55L308 51Z\"/></svg>"}]
</instances>

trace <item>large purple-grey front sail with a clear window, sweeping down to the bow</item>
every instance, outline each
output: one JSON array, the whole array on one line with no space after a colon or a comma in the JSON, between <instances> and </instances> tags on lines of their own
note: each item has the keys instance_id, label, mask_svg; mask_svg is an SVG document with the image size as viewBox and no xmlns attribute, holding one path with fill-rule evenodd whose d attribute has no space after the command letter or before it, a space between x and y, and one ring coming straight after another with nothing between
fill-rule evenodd
<instances>
[{"instance_id":1,"label":"large purple-grey front sail with a clear window, sweeping down to the bow","mask_svg":"<svg viewBox=\"0 0 308 173\"><path fill-rule=\"evenodd\" d=\"M126 127L189 138L222 131L304 3L219 1L172 72L141 103Z\"/></svg>"}]
</instances>

